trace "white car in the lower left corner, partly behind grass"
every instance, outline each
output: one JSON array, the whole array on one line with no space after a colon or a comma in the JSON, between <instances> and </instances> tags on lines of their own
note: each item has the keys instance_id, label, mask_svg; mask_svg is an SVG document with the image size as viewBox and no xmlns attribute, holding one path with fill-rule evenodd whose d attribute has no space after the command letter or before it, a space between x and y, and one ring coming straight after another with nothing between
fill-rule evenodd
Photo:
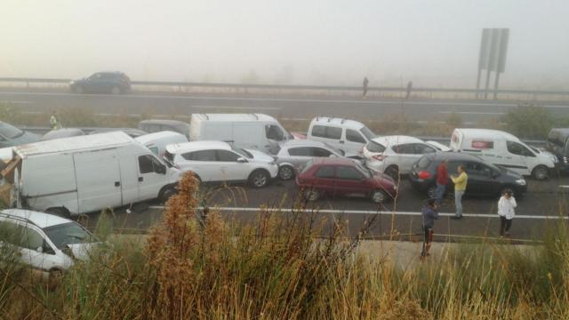
<instances>
[{"instance_id":1,"label":"white car in the lower left corner, partly behind grass","mask_svg":"<svg viewBox=\"0 0 569 320\"><path fill-rule=\"evenodd\" d=\"M87 260L99 242L78 223L56 215L22 209L0 212L0 247L49 278L77 260ZM4 257L8 258L8 257Z\"/></svg>"}]
</instances>

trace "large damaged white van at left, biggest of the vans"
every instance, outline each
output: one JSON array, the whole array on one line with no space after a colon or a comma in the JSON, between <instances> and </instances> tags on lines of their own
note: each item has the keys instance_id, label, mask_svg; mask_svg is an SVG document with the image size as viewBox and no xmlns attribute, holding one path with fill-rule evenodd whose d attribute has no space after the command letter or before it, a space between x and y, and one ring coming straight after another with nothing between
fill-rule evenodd
<instances>
[{"instance_id":1,"label":"large damaged white van at left, biggest of the vans","mask_svg":"<svg viewBox=\"0 0 569 320\"><path fill-rule=\"evenodd\" d=\"M13 152L3 172L13 183L11 204L60 215L165 200L180 179L179 170L124 132L30 143Z\"/></svg>"}]
</instances>

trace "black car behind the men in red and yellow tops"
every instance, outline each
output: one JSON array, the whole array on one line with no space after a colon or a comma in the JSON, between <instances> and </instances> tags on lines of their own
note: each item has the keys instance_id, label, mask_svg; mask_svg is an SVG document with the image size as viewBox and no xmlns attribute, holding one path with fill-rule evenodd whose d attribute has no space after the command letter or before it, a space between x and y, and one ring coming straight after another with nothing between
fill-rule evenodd
<instances>
[{"instance_id":1,"label":"black car behind the men in red and yellow tops","mask_svg":"<svg viewBox=\"0 0 569 320\"><path fill-rule=\"evenodd\" d=\"M521 197L527 189L524 178L517 172L511 172L504 167L488 164L477 156L459 152L437 152L422 156L413 164L409 174L411 185L416 190L435 197L437 188L437 167L444 159L448 159L447 170L450 175L458 174L459 165L464 165L469 181L465 196L501 196L501 191L511 188ZM447 192L454 188L453 181L449 179ZM449 190L450 189L450 190Z\"/></svg>"}]
</instances>

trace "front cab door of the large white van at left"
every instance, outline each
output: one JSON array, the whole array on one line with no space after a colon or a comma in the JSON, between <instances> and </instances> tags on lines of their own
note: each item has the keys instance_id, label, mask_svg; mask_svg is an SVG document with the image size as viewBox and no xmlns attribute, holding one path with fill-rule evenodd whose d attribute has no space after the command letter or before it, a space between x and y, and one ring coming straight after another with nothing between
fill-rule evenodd
<instances>
[{"instance_id":1,"label":"front cab door of the large white van at left","mask_svg":"<svg viewBox=\"0 0 569 320\"><path fill-rule=\"evenodd\" d=\"M139 201L155 199L166 184L166 167L153 155L139 155L136 161L139 169Z\"/></svg>"}]
</instances>

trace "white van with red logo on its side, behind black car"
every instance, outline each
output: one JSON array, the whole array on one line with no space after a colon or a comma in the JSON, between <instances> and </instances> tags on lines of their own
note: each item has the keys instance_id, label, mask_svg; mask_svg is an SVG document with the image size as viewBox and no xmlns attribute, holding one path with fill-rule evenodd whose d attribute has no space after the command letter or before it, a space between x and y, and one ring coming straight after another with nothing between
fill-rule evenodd
<instances>
[{"instance_id":1,"label":"white van with red logo on its side, behind black car","mask_svg":"<svg viewBox=\"0 0 569 320\"><path fill-rule=\"evenodd\" d=\"M454 129L450 147L537 180L547 179L557 162L555 156L535 151L514 135L498 130Z\"/></svg>"}]
</instances>

